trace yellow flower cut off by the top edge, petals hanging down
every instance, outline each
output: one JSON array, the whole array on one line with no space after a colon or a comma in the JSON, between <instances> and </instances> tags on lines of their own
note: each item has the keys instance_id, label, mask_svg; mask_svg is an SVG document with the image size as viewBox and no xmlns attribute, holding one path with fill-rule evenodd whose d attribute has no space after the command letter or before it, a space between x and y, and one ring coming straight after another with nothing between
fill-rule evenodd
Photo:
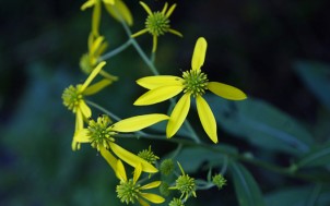
<instances>
[{"instance_id":1,"label":"yellow flower cut off by the top edge, petals hanging down","mask_svg":"<svg viewBox=\"0 0 330 206\"><path fill-rule=\"evenodd\" d=\"M81 10L94 7L92 16L92 34L98 36L98 28L101 22L102 2L104 3L108 13L117 21L123 20L128 25L133 24L132 14L127 5L121 0L87 0L81 5Z\"/></svg>"}]
</instances>

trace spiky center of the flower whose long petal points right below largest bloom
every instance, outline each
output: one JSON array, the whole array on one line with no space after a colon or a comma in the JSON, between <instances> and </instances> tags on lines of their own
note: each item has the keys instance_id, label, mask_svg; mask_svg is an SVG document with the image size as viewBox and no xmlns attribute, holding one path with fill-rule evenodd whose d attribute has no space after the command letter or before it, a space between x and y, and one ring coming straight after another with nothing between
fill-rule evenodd
<instances>
[{"instance_id":1,"label":"spiky center of the flower whose long petal points right below largest bloom","mask_svg":"<svg viewBox=\"0 0 330 206\"><path fill-rule=\"evenodd\" d=\"M92 147L97 150L101 147L109 148L110 143L115 142L113 136L117 133L111 131L110 123L108 116L98 117L96 122L90 120L87 130Z\"/></svg>"}]
</instances>

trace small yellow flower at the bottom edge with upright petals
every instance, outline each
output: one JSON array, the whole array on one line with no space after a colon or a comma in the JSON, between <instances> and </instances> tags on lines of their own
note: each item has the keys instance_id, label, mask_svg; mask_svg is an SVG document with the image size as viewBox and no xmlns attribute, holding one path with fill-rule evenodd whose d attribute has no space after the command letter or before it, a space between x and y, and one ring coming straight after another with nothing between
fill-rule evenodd
<instances>
[{"instance_id":1,"label":"small yellow flower at the bottom edge with upright petals","mask_svg":"<svg viewBox=\"0 0 330 206\"><path fill-rule=\"evenodd\" d=\"M144 199L154 203L161 204L164 203L165 199L156 194L144 193L143 191L155 189L161 185L161 181L154 181L145 185L140 185L138 180L141 175L142 167L140 163L134 169L134 174L132 179L128 179L126 175L125 167L120 160L117 161L117 170L116 174L120 180L119 185L116 187L117 196L120 198L121 203L132 203L134 204L138 201L142 206L149 206Z\"/></svg>"}]
</instances>

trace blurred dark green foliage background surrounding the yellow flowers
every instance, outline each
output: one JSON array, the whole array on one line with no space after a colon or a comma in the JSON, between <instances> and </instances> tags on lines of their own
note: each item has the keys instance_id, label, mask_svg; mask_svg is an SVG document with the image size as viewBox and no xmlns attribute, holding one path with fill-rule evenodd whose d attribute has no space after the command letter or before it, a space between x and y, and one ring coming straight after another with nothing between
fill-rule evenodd
<instances>
[{"instance_id":1,"label":"blurred dark green foliage background surrounding the yellow flowers","mask_svg":"<svg viewBox=\"0 0 330 206\"><path fill-rule=\"evenodd\" d=\"M148 2L163 7L161 0ZM85 77L78 65L86 51L91 13L81 12L81 3L0 2L0 205L119 205L117 180L98 154L89 146L71 150L74 118L60 98L64 87ZM138 31L143 25L138 14L144 11L138 2L127 3ZM205 36L203 70L250 96L235 104L208 97L220 144L185 148L177 160L192 177L205 177L208 166L226 169L228 185L198 191L187 205L204 205L203 199L208 205L330 205L329 1L177 3L173 23L185 38L160 39L160 72L176 75L189 68L192 43ZM126 40L113 20L105 19L104 31L110 48ZM138 41L151 48L151 38ZM132 57L137 53L129 49L109 61L107 70L120 82L93 100L122 118L166 112L166 105L131 105L143 92L134 81L150 75ZM199 122L196 128L201 130ZM133 152L150 143L122 141ZM175 145L157 142L152 148L165 157Z\"/></svg>"}]
</instances>

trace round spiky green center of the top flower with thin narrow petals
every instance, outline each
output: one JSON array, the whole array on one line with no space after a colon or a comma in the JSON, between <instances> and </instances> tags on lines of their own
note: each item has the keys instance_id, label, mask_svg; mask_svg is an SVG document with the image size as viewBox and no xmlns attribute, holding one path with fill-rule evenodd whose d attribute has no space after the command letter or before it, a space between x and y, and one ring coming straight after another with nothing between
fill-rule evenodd
<instances>
[{"instance_id":1,"label":"round spiky green center of the top flower with thin narrow petals","mask_svg":"<svg viewBox=\"0 0 330 206\"><path fill-rule=\"evenodd\" d=\"M169 20L162 12L154 12L146 17L145 27L150 34L161 36L168 32Z\"/></svg>"}]
</instances>

